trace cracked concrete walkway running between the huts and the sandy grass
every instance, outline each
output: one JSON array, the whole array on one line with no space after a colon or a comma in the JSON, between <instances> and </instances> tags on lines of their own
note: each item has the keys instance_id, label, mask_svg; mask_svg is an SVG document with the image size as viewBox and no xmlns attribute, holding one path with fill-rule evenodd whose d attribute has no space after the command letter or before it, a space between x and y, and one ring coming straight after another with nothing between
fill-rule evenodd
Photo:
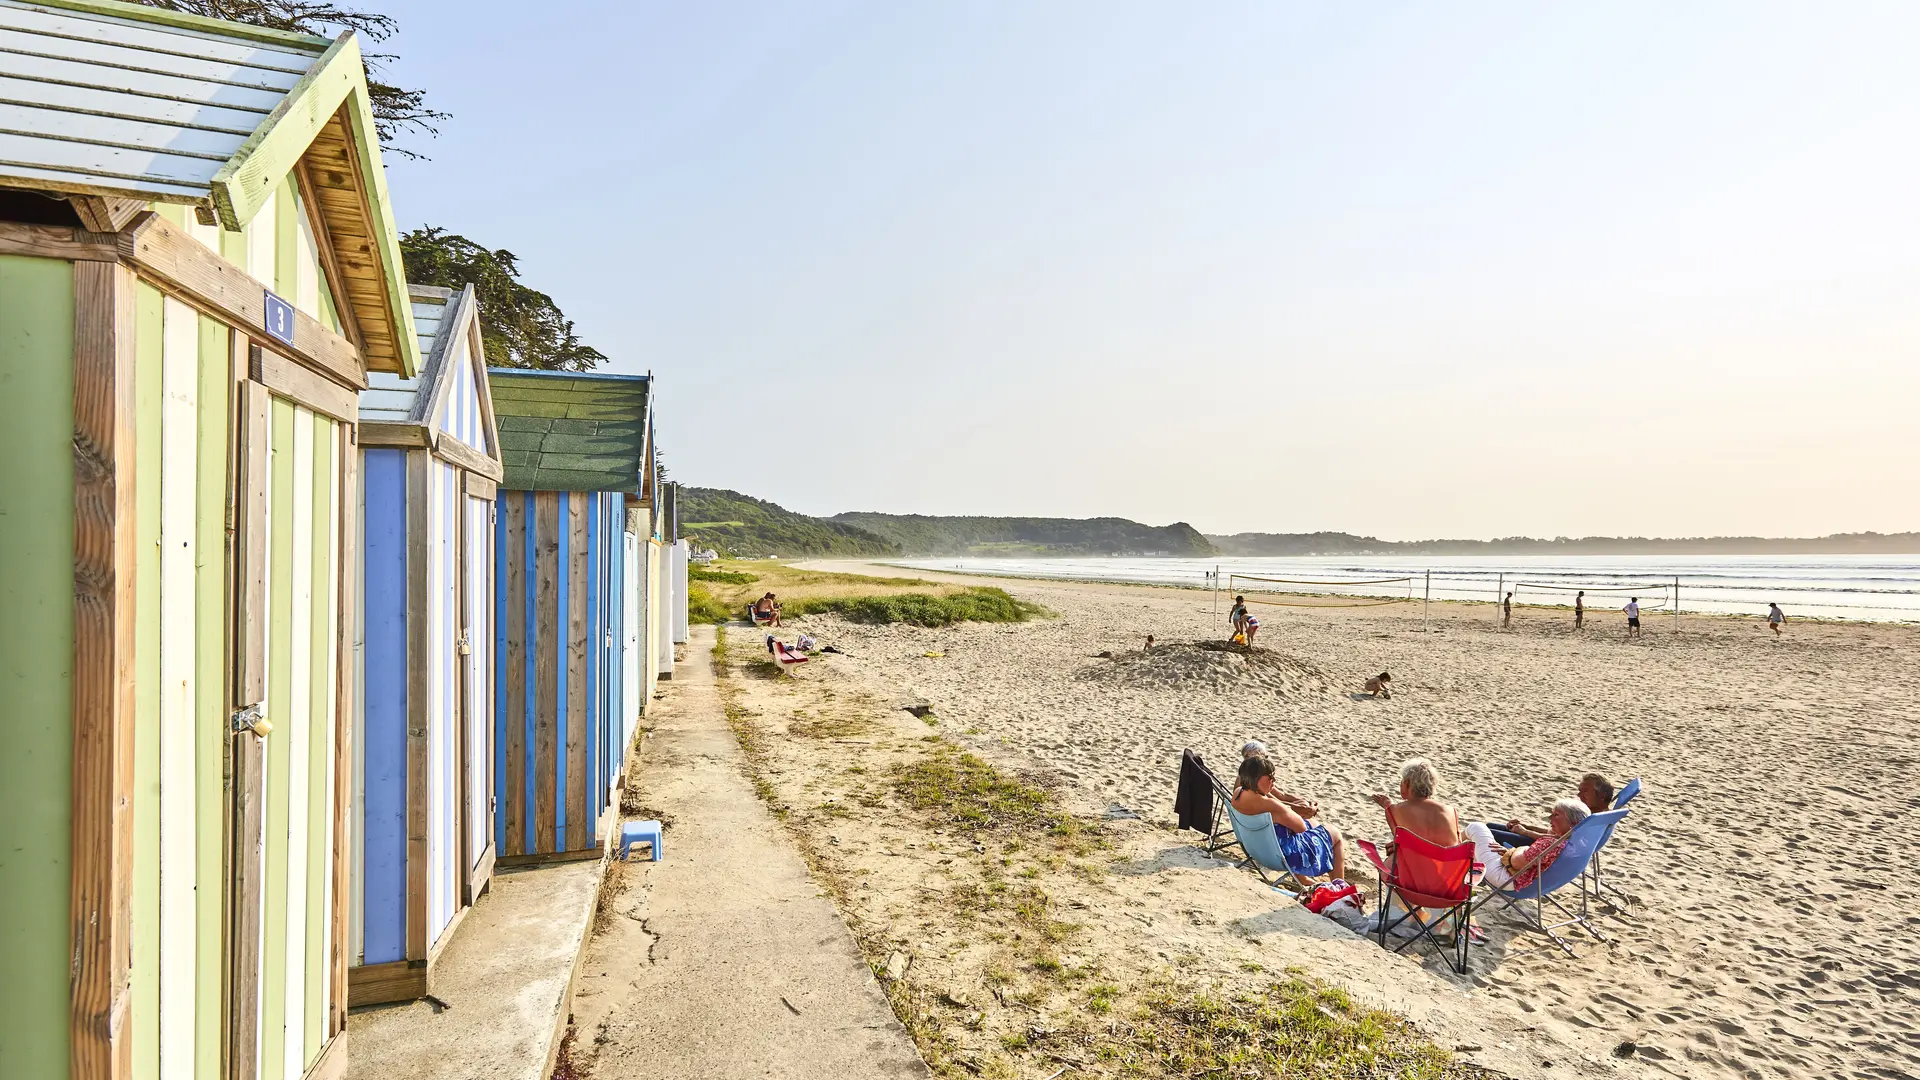
<instances>
[{"instance_id":1,"label":"cracked concrete walkway running between the huts and the sandy grass","mask_svg":"<svg viewBox=\"0 0 1920 1080\"><path fill-rule=\"evenodd\" d=\"M662 863L616 863L574 999L588 1078L927 1076L847 924L745 776L714 686L712 626L639 757L630 801L666 826Z\"/></svg>"}]
</instances>

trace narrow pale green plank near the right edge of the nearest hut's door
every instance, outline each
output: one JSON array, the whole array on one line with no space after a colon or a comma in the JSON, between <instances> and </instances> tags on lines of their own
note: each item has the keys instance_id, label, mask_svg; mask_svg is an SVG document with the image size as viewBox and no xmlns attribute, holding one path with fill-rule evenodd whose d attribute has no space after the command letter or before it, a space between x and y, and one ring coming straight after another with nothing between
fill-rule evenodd
<instances>
[{"instance_id":1,"label":"narrow pale green plank near the right edge of the nearest hut's door","mask_svg":"<svg viewBox=\"0 0 1920 1080\"><path fill-rule=\"evenodd\" d=\"M332 821L326 805L326 773L332 761L332 630L340 605L338 594L328 590L334 569L334 544L340 530L334 519L334 484L338 454L334 446L338 434L332 421L315 417L313 423L313 711L307 755L307 1001L305 1026L307 1068L321 1053L326 1038L326 822Z\"/></svg>"}]
</instances>

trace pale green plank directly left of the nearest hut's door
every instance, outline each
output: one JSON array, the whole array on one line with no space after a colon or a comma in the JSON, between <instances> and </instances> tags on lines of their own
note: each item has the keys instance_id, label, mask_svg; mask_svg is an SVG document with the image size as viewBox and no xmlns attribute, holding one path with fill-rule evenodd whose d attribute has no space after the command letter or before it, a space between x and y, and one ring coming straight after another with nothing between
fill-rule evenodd
<instances>
[{"instance_id":1,"label":"pale green plank directly left of the nearest hut's door","mask_svg":"<svg viewBox=\"0 0 1920 1080\"><path fill-rule=\"evenodd\" d=\"M227 874L221 844L227 836L227 386L228 329L200 317L200 511L194 580L194 847L196 970L194 1076L219 1080L221 1070L221 899Z\"/></svg>"}]
</instances>

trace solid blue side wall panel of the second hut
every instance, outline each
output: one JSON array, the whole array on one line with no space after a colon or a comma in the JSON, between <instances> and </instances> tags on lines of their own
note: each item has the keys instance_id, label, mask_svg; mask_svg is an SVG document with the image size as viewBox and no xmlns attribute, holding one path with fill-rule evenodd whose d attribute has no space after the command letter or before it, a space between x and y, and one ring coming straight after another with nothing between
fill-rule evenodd
<instances>
[{"instance_id":1,"label":"solid blue side wall panel of the second hut","mask_svg":"<svg viewBox=\"0 0 1920 1080\"><path fill-rule=\"evenodd\" d=\"M365 480L363 963L386 963L407 955L407 454L369 450Z\"/></svg>"}]
</instances>

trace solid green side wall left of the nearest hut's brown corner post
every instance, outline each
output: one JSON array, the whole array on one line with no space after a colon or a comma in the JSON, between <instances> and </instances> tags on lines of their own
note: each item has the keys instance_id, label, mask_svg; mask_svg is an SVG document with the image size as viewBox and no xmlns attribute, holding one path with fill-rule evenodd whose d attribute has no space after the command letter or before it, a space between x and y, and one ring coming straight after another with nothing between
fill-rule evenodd
<instances>
[{"instance_id":1,"label":"solid green side wall left of the nearest hut's brown corner post","mask_svg":"<svg viewBox=\"0 0 1920 1080\"><path fill-rule=\"evenodd\" d=\"M65 1076L73 263L0 256L0 1076Z\"/></svg>"}]
</instances>

